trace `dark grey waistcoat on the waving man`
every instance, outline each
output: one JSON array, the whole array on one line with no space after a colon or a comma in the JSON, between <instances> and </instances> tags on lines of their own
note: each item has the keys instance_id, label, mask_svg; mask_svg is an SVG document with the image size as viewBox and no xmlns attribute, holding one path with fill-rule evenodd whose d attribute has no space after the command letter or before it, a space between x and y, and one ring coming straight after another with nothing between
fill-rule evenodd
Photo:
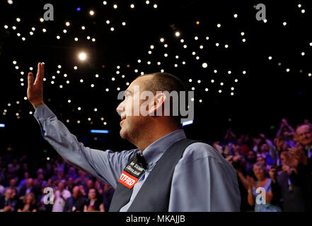
<instances>
[{"instance_id":1,"label":"dark grey waistcoat on the waving man","mask_svg":"<svg viewBox=\"0 0 312 226\"><path fill-rule=\"evenodd\" d=\"M129 206L129 212L168 212L175 165L182 157L185 148L195 142L199 141L189 139L177 141L163 153ZM132 159L129 162L131 161ZM127 186L118 183L109 211L118 212L122 206L129 203L132 190L133 188L128 189Z\"/></svg>"}]
</instances>

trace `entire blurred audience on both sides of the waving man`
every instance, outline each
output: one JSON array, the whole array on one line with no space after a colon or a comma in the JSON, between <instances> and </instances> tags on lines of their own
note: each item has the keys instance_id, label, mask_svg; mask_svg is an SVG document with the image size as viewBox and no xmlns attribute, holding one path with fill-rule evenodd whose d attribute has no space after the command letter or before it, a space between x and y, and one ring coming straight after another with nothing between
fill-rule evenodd
<instances>
[{"instance_id":1,"label":"entire blurred audience on both sides of the waving man","mask_svg":"<svg viewBox=\"0 0 312 226\"><path fill-rule=\"evenodd\" d=\"M274 138L263 133L237 136L229 129L221 141L212 145L236 169L242 211L312 210L309 121L294 129L282 119ZM46 187L54 191L53 205L45 204ZM265 193L258 187L264 188ZM113 192L110 185L72 167L59 156L33 163L10 146L0 152L1 212L103 212L108 211Z\"/></svg>"}]
</instances>

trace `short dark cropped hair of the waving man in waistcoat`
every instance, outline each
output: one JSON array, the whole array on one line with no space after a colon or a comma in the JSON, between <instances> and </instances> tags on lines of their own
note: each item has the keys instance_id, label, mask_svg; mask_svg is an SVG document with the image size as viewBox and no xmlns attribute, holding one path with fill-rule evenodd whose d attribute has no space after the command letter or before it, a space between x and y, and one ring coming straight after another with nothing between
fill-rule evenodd
<instances>
[{"instance_id":1,"label":"short dark cropped hair of the waving man in waistcoat","mask_svg":"<svg viewBox=\"0 0 312 226\"><path fill-rule=\"evenodd\" d=\"M187 88L185 83L183 83L183 81L180 80L180 78L178 78L177 76L173 76L171 73L161 73L161 72L156 72L156 73L150 73L150 74L144 74L141 76L138 76L137 78L140 77L144 77L144 76L152 76L151 81L149 81L147 83L147 87L146 89L148 89L149 91L153 92L154 95L156 95L156 91L168 91L168 93L171 93L172 91L184 91L185 92L185 106L187 107ZM170 106L171 106L171 114L173 113L172 110L172 99L170 102ZM178 125L181 126L181 119L182 119L182 115L180 115L180 111L178 116L172 116L173 119L175 119L175 121L178 123Z\"/></svg>"}]
</instances>

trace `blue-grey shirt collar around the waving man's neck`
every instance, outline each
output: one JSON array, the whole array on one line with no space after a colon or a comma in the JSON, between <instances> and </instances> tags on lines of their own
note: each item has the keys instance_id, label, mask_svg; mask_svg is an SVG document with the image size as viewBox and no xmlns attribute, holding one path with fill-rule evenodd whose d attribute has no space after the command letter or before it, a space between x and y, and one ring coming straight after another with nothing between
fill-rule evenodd
<instances>
[{"instance_id":1,"label":"blue-grey shirt collar around the waving man's neck","mask_svg":"<svg viewBox=\"0 0 312 226\"><path fill-rule=\"evenodd\" d=\"M171 133L168 133L166 136L159 138L154 143L151 143L145 150L143 151L143 156L147 162L148 169L154 167L156 162L161 158L163 153L176 141L180 141L185 139L185 133L183 129L175 130Z\"/></svg>"}]
</instances>

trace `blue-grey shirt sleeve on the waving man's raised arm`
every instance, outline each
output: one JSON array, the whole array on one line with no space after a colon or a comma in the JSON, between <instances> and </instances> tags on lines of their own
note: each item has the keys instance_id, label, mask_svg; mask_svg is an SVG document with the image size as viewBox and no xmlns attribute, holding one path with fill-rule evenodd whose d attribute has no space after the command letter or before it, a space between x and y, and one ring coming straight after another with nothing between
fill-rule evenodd
<instances>
[{"instance_id":1,"label":"blue-grey shirt sleeve on the waving man's raised arm","mask_svg":"<svg viewBox=\"0 0 312 226\"><path fill-rule=\"evenodd\" d=\"M129 159L139 149L124 150L120 153L112 150L96 150L85 147L47 105L40 105L34 113L40 124L43 138L71 165L83 169L114 188Z\"/></svg>"}]
</instances>

